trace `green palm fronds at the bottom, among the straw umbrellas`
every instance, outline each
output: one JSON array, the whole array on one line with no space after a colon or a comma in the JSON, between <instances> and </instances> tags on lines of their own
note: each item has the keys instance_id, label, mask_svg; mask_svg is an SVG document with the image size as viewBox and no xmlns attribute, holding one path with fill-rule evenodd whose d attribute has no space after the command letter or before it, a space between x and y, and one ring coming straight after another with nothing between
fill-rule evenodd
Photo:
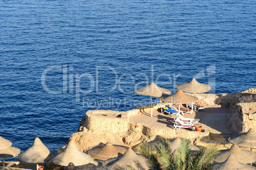
<instances>
[{"instance_id":1,"label":"green palm fronds at the bottom, among the straw umbrellas","mask_svg":"<svg viewBox=\"0 0 256 170\"><path fill-rule=\"evenodd\" d=\"M191 155L190 141L182 139L180 147L175 151L166 138L160 138L159 143L153 143L154 147L141 144L136 150L149 159L157 169L163 170L196 170L210 169L215 156L218 155L217 145L201 148L195 155Z\"/></svg>"}]
</instances>

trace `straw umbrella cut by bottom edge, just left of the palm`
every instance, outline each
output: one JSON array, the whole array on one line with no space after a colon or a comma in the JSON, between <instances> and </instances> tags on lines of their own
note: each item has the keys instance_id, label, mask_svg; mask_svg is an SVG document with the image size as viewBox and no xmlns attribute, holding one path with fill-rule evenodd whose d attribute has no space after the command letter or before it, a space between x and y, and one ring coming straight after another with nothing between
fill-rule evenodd
<instances>
[{"instance_id":1,"label":"straw umbrella cut by bottom edge, just left of the palm","mask_svg":"<svg viewBox=\"0 0 256 170\"><path fill-rule=\"evenodd\" d=\"M111 162L106 161L103 164L110 170L151 169L153 167L148 159L141 155L137 155L132 148L129 148L121 157L118 157Z\"/></svg>"}]
</instances>

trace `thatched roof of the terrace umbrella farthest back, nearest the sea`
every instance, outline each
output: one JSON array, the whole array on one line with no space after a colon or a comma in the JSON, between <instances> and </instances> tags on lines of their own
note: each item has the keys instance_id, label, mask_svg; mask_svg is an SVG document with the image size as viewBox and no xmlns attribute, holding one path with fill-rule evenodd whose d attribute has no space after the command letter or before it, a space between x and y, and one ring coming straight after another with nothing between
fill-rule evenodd
<instances>
[{"instance_id":1,"label":"thatched roof of the terrace umbrella farthest back, nearest the sea","mask_svg":"<svg viewBox=\"0 0 256 170\"><path fill-rule=\"evenodd\" d=\"M211 87L207 84L197 82L196 79L193 78L190 82L178 84L176 89L181 89L182 91L186 91L188 93L206 93L211 89Z\"/></svg>"}]
</instances>

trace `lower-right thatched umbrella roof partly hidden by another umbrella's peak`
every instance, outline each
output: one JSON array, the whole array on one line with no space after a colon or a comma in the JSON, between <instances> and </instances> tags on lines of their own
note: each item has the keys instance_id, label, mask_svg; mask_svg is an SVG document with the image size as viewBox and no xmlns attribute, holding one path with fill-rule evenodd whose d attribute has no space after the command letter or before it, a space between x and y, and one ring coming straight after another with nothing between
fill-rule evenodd
<instances>
[{"instance_id":1,"label":"lower-right thatched umbrella roof partly hidden by another umbrella's peak","mask_svg":"<svg viewBox=\"0 0 256 170\"><path fill-rule=\"evenodd\" d=\"M256 162L256 152L252 152L250 150L243 150L238 147L238 145L233 145L231 149L224 150L222 154L215 157L215 162L224 162L229 155L233 154L239 162L243 164L250 164Z\"/></svg>"}]
</instances>

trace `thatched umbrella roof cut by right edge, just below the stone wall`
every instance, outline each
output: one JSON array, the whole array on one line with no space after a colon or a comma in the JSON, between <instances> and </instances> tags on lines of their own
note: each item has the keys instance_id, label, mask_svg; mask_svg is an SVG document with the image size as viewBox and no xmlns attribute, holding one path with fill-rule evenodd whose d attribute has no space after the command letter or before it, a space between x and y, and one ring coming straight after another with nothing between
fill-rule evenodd
<instances>
[{"instance_id":1,"label":"thatched umbrella roof cut by right edge, just below the stone wall","mask_svg":"<svg viewBox=\"0 0 256 170\"><path fill-rule=\"evenodd\" d=\"M256 148L256 132L249 129L248 132L237 134L229 138L229 142L244 148Z\"/></svg>"}]
</instances>

